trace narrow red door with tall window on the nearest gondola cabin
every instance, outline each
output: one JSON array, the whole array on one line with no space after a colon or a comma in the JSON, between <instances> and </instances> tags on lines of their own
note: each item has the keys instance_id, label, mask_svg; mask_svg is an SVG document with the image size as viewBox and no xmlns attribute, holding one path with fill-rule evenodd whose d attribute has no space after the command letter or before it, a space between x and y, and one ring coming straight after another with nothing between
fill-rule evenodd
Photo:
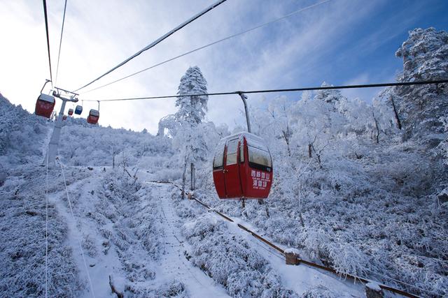
<instances>
[{"instance_id":1,"label":"narrow red door with tall window on the nearest gondola cabin","mask_svg":"<svg viewBox=\"0 0 448 298\"><path fill-rule=\"evenodd\" d=\"M242 141L242 140L241 140ZM241 198L241 179L238 165L239 138L229 140L225 151L224 181L227 198Z\"/></svg>"}]
</instances>

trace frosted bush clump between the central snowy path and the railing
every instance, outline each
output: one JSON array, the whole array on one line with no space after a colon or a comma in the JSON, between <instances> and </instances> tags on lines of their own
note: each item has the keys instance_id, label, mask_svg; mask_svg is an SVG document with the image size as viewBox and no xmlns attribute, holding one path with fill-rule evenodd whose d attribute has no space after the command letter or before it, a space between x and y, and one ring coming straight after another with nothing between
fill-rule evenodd
<instances>
[{"instance_id":1,"label":"frosted bush clump between the central snowy path and the railing","mask_svg":"<svg viewBox=\"0 0 448 298\"><path fill-rule=\"evenodd\" d=\"M232 297L296 297L286 290L269 262L232 236L223 221L212 214L183 225L183 235L193 246L190 261L223 285Z\"/></svg>"}]
</instances>

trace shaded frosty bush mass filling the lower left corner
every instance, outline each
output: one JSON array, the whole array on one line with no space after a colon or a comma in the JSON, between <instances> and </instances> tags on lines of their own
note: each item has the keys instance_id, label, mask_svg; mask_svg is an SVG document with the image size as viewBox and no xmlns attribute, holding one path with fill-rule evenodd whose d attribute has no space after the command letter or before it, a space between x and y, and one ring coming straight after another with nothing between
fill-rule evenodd
<instances>
[{"instance_id":1,"label":"shaded frosty bush mass filling the lower left corner","mask_svg":"<svg viewBox=\"0 0 448 298\"><path fill-rule=\"evenodd\" d=\"M41 167L19 166L0 188L0 292L2 297L45 296L45 189ZM73 297L78 277L67 224L48 206L48 296Z\"/></svg>"}]
</instances>

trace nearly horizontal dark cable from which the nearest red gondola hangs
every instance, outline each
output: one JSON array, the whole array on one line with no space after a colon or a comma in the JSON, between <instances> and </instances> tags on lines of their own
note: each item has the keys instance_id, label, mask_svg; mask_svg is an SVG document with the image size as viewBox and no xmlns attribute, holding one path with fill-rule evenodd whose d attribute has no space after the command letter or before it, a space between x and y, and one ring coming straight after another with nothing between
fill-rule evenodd
<instances>
[{"instance_id":1,"label":"nearly horizontal dark cable from which the nearest red gondola hangs","mask_svg":"<svg viewBox=\"0 0 448 298\"><path fill-rule=\"evenodd\" d=\"M158 98L179 98L186 96L219 96L231 94L256 94L256 93L273 93L273 92L296 92L296 91L313 91L313 90L331 90L331 89L357 89L357 88L375 88L375 87L397 87L397 86L414 86L424 84L444 84L448 80L431 80L431 81L415 81L415 82L395 82L395 83L379 83L379 84L358 84L358 85L342 85L342 86L321 86L321 87L304 87L290 89L267 89L267 90L251 90L251 91L230 91L203 94L176 94L168 96L146 96L133 98L111 98L111 99L85 99L84 101L121 101L121 100L144 100Z\"/></svg>"}]
</instances>

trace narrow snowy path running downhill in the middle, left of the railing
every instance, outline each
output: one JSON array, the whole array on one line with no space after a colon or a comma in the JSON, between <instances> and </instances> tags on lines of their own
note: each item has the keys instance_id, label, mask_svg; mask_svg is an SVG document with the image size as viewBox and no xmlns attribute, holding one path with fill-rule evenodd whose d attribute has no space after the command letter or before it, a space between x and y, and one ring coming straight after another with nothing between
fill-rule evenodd
<instances>
[{"instance_id":1,"label":"narrow snowy path running downhill in the middle, left of the railing","mask_svg":"<svg viewBox=\"0 0 448 298\"><path fill-rule=\"evenodd\" d=\"M224 288L186 259L184 251L190 247L181 235L182 223L171 202L169 189L172 186L158 187L161 190L160 207L165 225L165 253L160 260L160 275L167 281L181 281L186 285L190 297L229 297Z\"/></svg>"}]
</instances>

